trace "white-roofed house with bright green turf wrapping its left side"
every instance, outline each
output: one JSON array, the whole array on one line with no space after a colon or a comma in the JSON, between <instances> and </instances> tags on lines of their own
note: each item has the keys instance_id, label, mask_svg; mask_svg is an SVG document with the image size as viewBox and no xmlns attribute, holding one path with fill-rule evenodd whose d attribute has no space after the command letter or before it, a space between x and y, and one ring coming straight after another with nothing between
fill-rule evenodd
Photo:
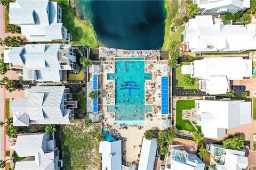
<instances>
[{"instance_id":1,"label":"white-roofed house with bright green turf wrapping its left side","mask_svg":"<svg viewBox=\"0 0 256 170\"><path fill-rule=\"evenodd\" d=\"M195 100L193 120L201 126L204 137L224 138L226 129L252 121L252 103L244 100Z\"/></svg>"}]
</instances>

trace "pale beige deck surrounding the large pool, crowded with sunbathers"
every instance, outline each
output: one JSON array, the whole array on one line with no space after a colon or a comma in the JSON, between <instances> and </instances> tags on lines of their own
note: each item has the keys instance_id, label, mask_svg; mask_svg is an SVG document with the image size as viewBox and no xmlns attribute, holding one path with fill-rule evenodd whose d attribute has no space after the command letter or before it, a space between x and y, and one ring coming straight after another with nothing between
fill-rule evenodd
<instances>
[{"instance_id":1,"label":"pale beige deck surrounding the large pool, crowded with sunbathers","mask_svg":"<svg viewBox=\"0 0 256 170\"><path fill-rule=\"evenodd\" d=\"M111 51L110 56L106 55L106 51ZM111 128L108 130L117 130L117 133L120 133L122 138L127 139L126 142L122 142L122 151L126 151L123 156L123 159L126 163L132 163L138 160L138 155L141 151L142 137L146 130L155 130L156 128L162 130L161 126L161 118L167 117L167 115L162 115L161 110L159 109L159 105L161 105L161 76L169 75L168 72L159 73L159 64L167 64L167 62L159 62L157 58L160 56L160 53L156 50L153 52L151 50L127 50L126 52L133 51L134 54L123 54L125 50L115 50L109 48L100 47L100 57L104 57L102 61L102 116L105 118L105 125L111 125ZM107 112L107 105L115 105L115 82L114 80L107 80L108 73L115 72L115 62L114 57L116 55L120 57L141 57L142 55L135 55L137 52L142 52L143 54L152 56L152 58L146 58L145 61L145 72L150 72L153 75L152 80L145 81L145 105L153 106L153 113L146 113L145 115L145 124L143 125L127 125L127 129L122 129L120 125L115 124L115 113ZM149 54L151 53L151 54ZM152 60L151 60L152 59ZM109 88L111 87L111 88ZM159 95L160 94L160 95ZM109 99L106 99L106 98ZM153 117L150 119L147 117L149 114L152 114ZM139 130L139 126L143 126Z\"/></svg>"}]
</instances>

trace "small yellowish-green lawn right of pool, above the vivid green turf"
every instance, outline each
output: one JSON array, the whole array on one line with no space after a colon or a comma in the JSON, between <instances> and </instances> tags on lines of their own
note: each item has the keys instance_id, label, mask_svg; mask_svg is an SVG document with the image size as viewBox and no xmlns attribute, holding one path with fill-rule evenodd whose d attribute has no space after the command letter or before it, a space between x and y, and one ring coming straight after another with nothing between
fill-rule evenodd
<instances>
[{"instance_id":1,"label":"small yellowish-green lawn right of pool, above the vivid green turf","mask_svg":"<svg viewBox=\"0 0 256 170\"><path fill-rule=\"evenodd\" d=\"M183 62L181 65L188 65L189 62ZM176 79L178 80L178 86L183 87L184 89L198 89L198 83L195 83L195 85L187 86L184 82L185 77L190 77L190 75L181 74L181 65L179 65L176 68ZM198 81L198 78L195 78L196 81Z\"/></svg>"}]
</instances>

